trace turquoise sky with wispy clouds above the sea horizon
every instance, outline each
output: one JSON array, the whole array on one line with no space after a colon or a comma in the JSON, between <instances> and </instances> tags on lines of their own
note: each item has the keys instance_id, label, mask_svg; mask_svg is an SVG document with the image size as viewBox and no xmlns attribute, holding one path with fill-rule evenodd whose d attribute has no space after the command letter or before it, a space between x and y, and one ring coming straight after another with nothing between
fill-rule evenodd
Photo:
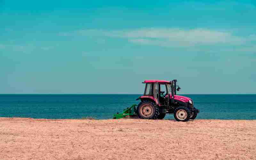
<instances>
[{"instance_id":1,"label":"turquoise sky with wispy clouds above the sea horizon","mask_svg":"<svg viewBox=\"0 0 256 160\"><path fill-rule=\"evenodd\" d=\"M0 94L256 93L255 1L0 0Z\"/></svg>"}]
</instances>

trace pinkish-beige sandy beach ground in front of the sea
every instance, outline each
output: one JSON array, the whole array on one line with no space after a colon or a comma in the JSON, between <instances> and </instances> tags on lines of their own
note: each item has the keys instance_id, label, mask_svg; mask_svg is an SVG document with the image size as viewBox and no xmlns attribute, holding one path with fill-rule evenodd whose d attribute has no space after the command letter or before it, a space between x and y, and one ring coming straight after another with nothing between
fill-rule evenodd
<instances>
[{"instance_id":1,"label":"pinkish-beige sandy beach ground in front of the sea","mask_svg":"<svg viewBox=\"0 0 256 160\"><path fill-rule=\"evenodd\" d=\"M0 159L256 159L256 120L0 118Z\"/></svg>"}]
</instances>

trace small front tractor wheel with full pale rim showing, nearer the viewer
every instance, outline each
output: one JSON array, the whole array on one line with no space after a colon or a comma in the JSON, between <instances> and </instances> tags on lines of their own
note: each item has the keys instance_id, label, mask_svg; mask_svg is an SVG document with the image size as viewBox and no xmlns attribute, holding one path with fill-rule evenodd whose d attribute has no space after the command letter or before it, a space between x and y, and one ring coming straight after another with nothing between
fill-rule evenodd
<instances>
[{"instance_id":1,"label":"small front tractor wheel with full pale rim showing, nearer the viewer","mask_svg":"<svg viewBox=\"0 0 256 160\"><path fill-rule=\"evenodd\" d=\"M187 122L190 119L190 111L186 107L178 107L174 110L176 121Z\"/></svg>"}]
</instances>

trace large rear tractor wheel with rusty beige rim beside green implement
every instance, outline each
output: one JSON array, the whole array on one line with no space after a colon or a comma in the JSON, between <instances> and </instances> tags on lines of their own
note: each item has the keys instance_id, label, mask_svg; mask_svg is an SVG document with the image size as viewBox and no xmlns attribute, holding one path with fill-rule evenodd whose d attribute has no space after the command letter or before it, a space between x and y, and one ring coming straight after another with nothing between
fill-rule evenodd
<instances>
[{"instance_id":1,"label":"large rear tractor wheel with rusty beige rim beside green implement","mask_svg":"<svg viewBox=\"0 0 256 160\"><path fill-rule=\"evenodd\" d=\"M157 119L159 109L150 102L141 103L138 106L138 116L141 119Z\"/></svg>"}]
</instances>

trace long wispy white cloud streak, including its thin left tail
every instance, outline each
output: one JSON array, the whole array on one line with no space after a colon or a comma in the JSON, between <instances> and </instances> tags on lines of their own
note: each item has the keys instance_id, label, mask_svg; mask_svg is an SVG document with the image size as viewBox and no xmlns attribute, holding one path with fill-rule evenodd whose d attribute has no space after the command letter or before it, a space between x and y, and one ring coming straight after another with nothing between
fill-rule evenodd
<instances>
[{"instance_id":1,"label":"long wispy white cloud streak, including its thin left tail","mask_svg":"<svg viewBox=\"0 0 256 160\"><path fill-rule=\"evenodd\" d=\"M231 44L240 45L248 39L256 38L255 35L248 37L236 36L228 31L210 30L204 28L181 29L181 28L140 28L133 30L100 30L86 29L71 33L60 33L60 36L105 36L126 38L132 43L160 45L160 46L197 46Z\"/></svg>"}]
</instances>

